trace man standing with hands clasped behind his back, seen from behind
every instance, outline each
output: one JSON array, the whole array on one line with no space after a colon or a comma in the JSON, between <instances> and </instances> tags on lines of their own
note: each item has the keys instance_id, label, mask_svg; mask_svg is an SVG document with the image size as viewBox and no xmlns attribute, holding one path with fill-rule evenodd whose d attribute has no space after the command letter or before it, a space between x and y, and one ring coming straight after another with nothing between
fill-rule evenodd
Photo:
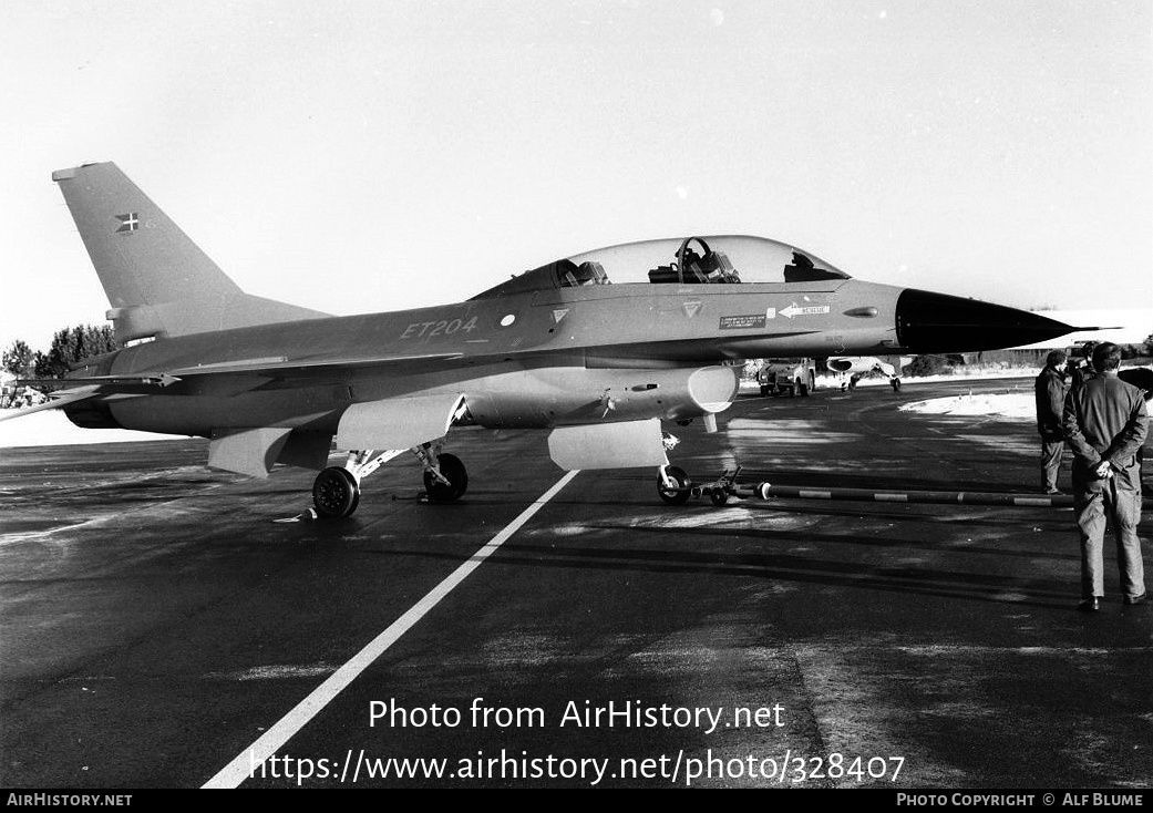
<instances>
[{"instance_id":1,"label":"man standing with hands clasped behind his back, seen from behind","mask_svg":"<svg viewBox=\"0 0 1153 813\"><path fill-rule=\"evenodd\" d=\"M1121 348L1111 342L1093 351L1097 375L1070 390L1065 399L1065 441L1073 452L1073 505L1080 528L1082 602L1093 612L1105 595L1101 549L1106 517L1117 540L1117 566L1125 604L1145 601L1145 571L1137 524L1141 518L1137 450L1148 431L1145 398L1117 378Z\"/></svg>"}]
</instances>

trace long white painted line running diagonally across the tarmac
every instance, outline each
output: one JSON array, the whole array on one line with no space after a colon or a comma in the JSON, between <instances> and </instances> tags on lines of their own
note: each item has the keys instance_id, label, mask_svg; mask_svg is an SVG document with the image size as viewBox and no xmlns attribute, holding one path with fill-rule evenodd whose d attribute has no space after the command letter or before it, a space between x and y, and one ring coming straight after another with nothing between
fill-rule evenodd
<instances>
[{"instance_id":1,"label":"long white painted line running diagonally across the tarmac","mask_svg":"<svg viewBox=\"0 0 1153 813\"><path fill-rule=\"evenodd\" d=\"M436 607L442 599L452 592L457 585L468 578L469 573L481 566L484 559L489 558L497 549L508 541L513 534L533 518L544 505L557 496L579 472L568 472L553 484L548 491L525 509L521 514L505 526L504 530L493 536L484 547L454 570L444 581L434 587L428 595L416 602L405 615L394 620L387 630L377 635L372 641L353 656L348 663L334 671L327 680L317 686L311 694L301 700L295 708L286 714L281 720L265 731L259 739L244 748L232 762L220 769L216 776L204 783L203 788L236 788L241 782L249 778L251 771L258 768L266 759L276 754L285 743L319 712L332 701L348 684L364 671L369 664L384 654L384 652L395 643L401 635L408 632L416 622Z\"/></svg>"}]
</instances>

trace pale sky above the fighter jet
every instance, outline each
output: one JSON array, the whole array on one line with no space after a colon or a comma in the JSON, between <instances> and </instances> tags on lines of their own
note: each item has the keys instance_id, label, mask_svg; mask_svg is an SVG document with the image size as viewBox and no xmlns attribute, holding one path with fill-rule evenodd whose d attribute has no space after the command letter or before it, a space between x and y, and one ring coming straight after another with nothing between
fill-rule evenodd
<instances>
[{"instance_id":1,"label":"pale sky above the fighter jet","mask_svg":"<svg viewBox=\"0 0 1153 813\"><path fill-rule=\"evenodd\" d=\"M246 291L462 299L760 234L1025 308L1153 304L1153 0L0 1L0 345L107 301L113 160Z\"/></svg>"}]
</instances>

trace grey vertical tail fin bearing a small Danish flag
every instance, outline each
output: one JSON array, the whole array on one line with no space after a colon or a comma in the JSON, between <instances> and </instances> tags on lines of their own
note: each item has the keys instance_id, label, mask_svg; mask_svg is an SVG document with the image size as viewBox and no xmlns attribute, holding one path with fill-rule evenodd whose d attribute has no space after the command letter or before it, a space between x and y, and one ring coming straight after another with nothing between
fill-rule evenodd
<instances>
[{"instance_id":1,"label":"grey vertical tail fin bearing a small Danish flag","mask_svg":"<svg viewBox=\"0 0 1153 813\"><path fill-rule=\"evenodd\" d=\"M326 316L246 294L115 164L60 170L52 180L100 277L120 341Z\"/></svg>"}]
</instances>

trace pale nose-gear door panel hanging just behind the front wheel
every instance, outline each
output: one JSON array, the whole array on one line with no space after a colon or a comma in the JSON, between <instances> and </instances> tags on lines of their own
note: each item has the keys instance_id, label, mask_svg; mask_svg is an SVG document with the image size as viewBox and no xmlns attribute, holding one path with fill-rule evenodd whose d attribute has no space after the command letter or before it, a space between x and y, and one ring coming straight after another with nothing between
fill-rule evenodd
<instances>
[{"instance_id":1,"label":"pale nose-gear door panel hanging just behind the front wheel","mask_svg":"<svg viewBox=\"0 0 1153 813\"><path fill-rule=\"evenodd\" d=\"M562 427L549 435L552 462L570 472L595 468L665 466L661 421L625 421Z\"/></svg>"}]
</instances>

